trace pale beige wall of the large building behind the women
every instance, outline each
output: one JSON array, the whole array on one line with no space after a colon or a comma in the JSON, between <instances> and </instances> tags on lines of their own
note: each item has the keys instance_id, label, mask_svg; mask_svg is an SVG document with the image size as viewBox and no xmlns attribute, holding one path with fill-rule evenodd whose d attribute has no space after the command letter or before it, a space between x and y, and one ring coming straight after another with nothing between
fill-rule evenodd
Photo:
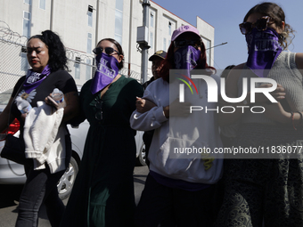
<instances>
[{"instance_id":1,"label":"pale beige wall of the large building behind the women","mask_svg":"<svg viewBox=\"0 0 303 227\"><path fill-rule=\"evenodd\" d=\"M52 1L53 20L51 21ZM97 9L98 1L99 8ZM46 0L45 10L39 9L39 0L32 0L32 5L24 4L23 0L0 0L0 4L0 20L4 20L13 31L22 34L23 11L31 12L31 35L36 35L45 29L50 29L51 24L53 24L53 31L61 36L64 45L79 53L79 55L94 57L91 53L86 52L88 33L92 34L92 49L94 49L94 45L98 40L104 37L113 38L115 34L115 0ZM88 4L94 7L93 27L88 26ZM166 48L170 45L169 22L171 23L172 31L182 25L189 24L153 2L151 2L149 17L151 12L153 12L154 24L153 28L150 29L150 32L153 34L153 45L149 50L149 57L154 52L164 48L164 38L166 39ZM97 13L99 16L98 28L96 28ZM214 45L215 28L204 20L201 20L198 16L197 28L201 32L201 36L209 39L211 45ZM142 1L124 0L122 47L125 53L125 68L129 66L131 70L138 73L141 72L141 53L137 51L136 28L142 26L142 24ZM210 54L213 60L213 49ZM211 65L213 65L213 61L211 61ZM151 62L149 62L148 66L148 77L151 77ZM74 76L74 65L70 64L70 68L72 69L70 74ZM81 77L80 79L76 79L78 85L86 82L85 74L86 69L81 66Z\"/></svg>"}]
</instances>

